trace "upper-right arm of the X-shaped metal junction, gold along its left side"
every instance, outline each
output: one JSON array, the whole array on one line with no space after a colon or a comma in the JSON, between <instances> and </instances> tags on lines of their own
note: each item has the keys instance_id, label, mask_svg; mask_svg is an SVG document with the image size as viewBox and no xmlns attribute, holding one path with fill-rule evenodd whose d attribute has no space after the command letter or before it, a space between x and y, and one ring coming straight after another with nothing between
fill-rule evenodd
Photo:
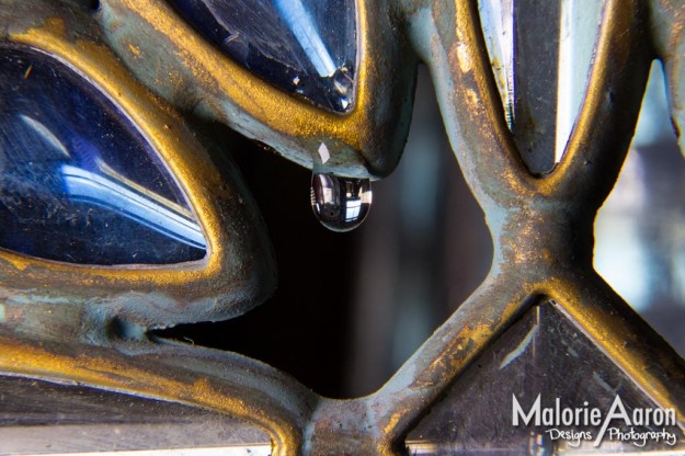
<instances>
[{"instance_id":1,"label":"upper-right arm of the X-shaped metal junction, gold along its left side","mask_svg":"<svg viewBox=\"0 0 685 456\"><path fill-rule=\"evenodd\" d=\"M563 159L540 182L541 194L598 208L614 187L653 58L644 13L640 3L607 1L585 101Z\"/></svg>"}]
</instances>

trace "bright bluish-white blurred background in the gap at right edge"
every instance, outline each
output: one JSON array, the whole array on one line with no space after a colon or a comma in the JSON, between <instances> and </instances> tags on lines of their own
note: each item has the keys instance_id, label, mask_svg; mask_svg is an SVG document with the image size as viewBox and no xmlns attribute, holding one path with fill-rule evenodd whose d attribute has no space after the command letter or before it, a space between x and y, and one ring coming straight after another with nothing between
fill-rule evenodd
<instances>
[{"instance_id":1,"label":"bright bluish-white blurred background in the gap at right edge","mask_svg":"<svg viewBox=\"0 0 685 456\"><path fill-rule=\"evenodd\" d=\"M636 135L595 221L597 272L685 356L685 161L652 64Z\"/></svg>"}]
</instances>

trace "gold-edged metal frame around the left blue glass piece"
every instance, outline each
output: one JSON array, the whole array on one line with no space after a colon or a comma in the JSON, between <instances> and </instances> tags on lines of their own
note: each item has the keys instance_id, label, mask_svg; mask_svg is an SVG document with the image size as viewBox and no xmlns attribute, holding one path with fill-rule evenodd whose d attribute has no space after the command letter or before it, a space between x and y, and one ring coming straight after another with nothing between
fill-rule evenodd
<instances>
[{"instance_id":1,"label":"gold-edged metal frame around the left blue glass piece","mask_svg":"<svg viewBox=\"0 0 685 456\"><path fill-rule=\"evenodd\" d=\"M126 113L183 190L207 239L207 255L170 265L80 266L0 249L0 287L35 301L95 301L127 310L147 326L227 318L261 303L274 286L272 255L241 184L226 184L239 178L221 175L179 114L133 79L92 31L83 30L90 18L79 21L58 5L36 11L24 22L14 18L3 41L61 61ZM174 319L174 312L164 315L156 307L184 314Z\"/></svg>"}]
</instances>

